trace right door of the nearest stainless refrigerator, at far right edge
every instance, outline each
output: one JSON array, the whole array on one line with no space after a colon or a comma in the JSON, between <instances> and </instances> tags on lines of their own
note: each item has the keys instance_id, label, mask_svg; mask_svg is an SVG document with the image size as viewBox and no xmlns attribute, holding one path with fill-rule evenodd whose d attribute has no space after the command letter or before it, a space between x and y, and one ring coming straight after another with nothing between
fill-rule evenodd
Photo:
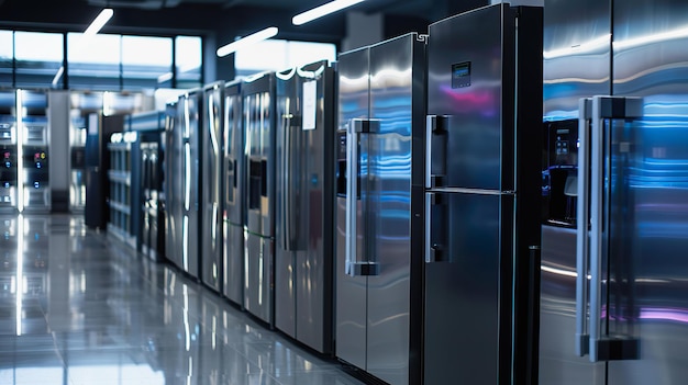
<instances>
[{"instance_id":1,"label":"right door of the nearest stainless refrigerator, at far right edge","mask_svg":"<svg viewBox=\"0 0 688 385\"><path fill-rule=\"evenodd\" d=\"M618 256L633 273L641 350L639 360L609 363L609 384L680 384L688 378L688 4L614 2L613 20L613 94L644 105L624 139L632 201L622 207L634 207L633 240Z\"/></svg>"}]
</instances>

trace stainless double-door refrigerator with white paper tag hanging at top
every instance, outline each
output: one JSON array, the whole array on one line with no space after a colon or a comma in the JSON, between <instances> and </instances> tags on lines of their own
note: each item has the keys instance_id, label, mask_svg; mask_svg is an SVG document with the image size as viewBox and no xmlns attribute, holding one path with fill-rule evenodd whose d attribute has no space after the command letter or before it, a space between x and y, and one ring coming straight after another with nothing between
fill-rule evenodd
<instances>
[{"instance_id":1,"label":"stainless double-door refrigerator with white paper tag hanging at top","mask_svg":"<svg viewBox=\"0 0 688 385\"><path fill-rule=\"evenodd\" d=\"M276 73L275 326L321 353L333 347L334 68Z\"/></svg>"}]
</instances>

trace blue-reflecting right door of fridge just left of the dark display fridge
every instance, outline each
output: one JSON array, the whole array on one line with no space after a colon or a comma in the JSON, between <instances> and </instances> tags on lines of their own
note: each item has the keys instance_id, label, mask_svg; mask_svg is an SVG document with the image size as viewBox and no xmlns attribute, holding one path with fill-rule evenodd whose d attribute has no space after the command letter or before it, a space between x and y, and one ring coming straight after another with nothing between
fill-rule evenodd
<instances>
[{"instance_id":1,"label":"blue-reflecting right door of fridge just left of the dark display fridge","mask_svg":"<svg viewBox=\"0 0 688 385\"><path fill-rule=\"evenodd\" d=\"M409 382L411 131L417 35L370 47L369 184L366 259L379 263L368 278L367 370L390 384ZM417 64L418 65L418 64Z\"/></svg>"}]
</instances>

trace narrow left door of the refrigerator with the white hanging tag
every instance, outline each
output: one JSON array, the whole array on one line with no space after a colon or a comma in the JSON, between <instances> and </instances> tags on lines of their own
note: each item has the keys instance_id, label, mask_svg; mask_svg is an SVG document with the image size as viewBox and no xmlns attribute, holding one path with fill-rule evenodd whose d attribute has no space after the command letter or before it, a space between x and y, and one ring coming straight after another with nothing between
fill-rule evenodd
<instances>
[{"instance_id":1,"label":"narrow left door of the refrigerator with the white hanging tag","mask_svg":"<svg viewBox=\"0 0 688 385\"><path fill-rule=\"evenodd\" d=\"M299 229L301 193L299 160L303 149L299 144L298 79L296 68L276 75L277 134L275 202L275 326L290 337L297 337L296 324L296 250L295 235Z\"/></svg>"}]
</instances>

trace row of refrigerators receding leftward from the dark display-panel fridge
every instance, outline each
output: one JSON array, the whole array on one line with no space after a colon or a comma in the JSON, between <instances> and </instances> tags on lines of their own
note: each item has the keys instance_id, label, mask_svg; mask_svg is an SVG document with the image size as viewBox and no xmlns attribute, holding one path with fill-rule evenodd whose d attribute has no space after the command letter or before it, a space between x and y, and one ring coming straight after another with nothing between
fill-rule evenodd
<instances>
[{"instance_id":1,"label":"row of refrigerators receding leftward from the dark display-panel fridge","mask_svg":"<svg viewBox=\"0 0 688 385\"><path fill-rule=\"evenodd\" d=\"M536 375L542 9L167 105L166 257L388 384Z\"/></svg>"}]
</instances>

